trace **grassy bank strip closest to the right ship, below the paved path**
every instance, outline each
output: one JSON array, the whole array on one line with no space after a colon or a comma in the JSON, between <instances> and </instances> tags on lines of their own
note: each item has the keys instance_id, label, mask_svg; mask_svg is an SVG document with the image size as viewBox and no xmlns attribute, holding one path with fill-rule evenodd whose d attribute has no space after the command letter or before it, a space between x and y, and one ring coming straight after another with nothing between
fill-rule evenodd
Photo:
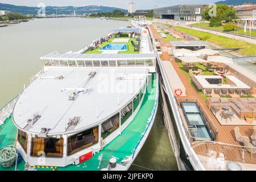
<instances>
[{"instance_id":1,"label":"grassy bank strip closest to the right ship, below the paved path","mask_svg":"<svg viewBox=\"0 0 256 182\"><path fill-rule=\"evenodd\" d=\"M174 27L176 30L190 34L192 36L198 37L200 40L208 41L209 43L216 44L223 48L244 48L239 49L238 53L244 56L255 56L256 55L256 45L247 43L242 40L236 40L231 38L226 38L225 36L214 35L204 31L192 30L190 28L184 27Z\"/></svg>"}]
</instances>

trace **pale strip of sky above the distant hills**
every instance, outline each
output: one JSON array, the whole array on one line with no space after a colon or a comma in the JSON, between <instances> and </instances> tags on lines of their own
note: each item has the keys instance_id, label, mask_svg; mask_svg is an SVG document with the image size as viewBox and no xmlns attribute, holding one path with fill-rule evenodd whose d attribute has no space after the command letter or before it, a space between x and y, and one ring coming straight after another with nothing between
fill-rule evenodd
<instances>
[{"instance_id":1,"label":"pale strip of sky above the distant hills","mask_svg":"<svg viewBox=\"0 0 256 182\"><path fill-rule=\"evenodd\" d=\"M218 0L0 0L0 3L22 6L37 6L38 3L44 3L46 6L101 5L127 9L127 4L131 1L137 4L137 9L154 9L155 6L164 7L179 4L205 4L217 2Z\"/></svg>"}]
</instances>

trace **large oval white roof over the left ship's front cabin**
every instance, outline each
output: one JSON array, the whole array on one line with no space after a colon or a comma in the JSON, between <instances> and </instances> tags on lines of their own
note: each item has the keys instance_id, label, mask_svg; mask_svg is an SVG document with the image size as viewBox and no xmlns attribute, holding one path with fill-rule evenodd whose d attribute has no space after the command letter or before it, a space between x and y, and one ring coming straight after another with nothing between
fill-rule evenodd
<instances>
[{"instance_id":1,"label":"large oval white roof over the left ship's front cabin","mask_svg":"<svg viewBox=\"0 0 256 182\"><path fill-rule=\"evenodd\" d=\"M96 71L95 77L88 74ZM32 82L19 97L14 107L14 123L22 130L39 134L42 128L48 134L72 133L105 121L128 104L139 92L147 78L148 69L93 69L51 68ZM55 79L63 76L63 79ZM117 76L125 79L117 80ZM74 101L68 95L74 89L88 88ZM41 118L28 129L27 120L34 114ZM81 117L77 126L67 130L68 119Z\"/></svg>"}]
</instances>

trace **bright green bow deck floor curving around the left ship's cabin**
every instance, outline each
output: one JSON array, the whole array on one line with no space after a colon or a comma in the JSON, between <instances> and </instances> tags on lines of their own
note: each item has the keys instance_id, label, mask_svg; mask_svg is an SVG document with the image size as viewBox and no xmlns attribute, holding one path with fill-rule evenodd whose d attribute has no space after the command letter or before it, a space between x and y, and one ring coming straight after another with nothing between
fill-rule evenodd
<instances>
[{"instance_id":1,"label":"bright green bow deck floor curving around the left ship's cabin","mask_svg":"<svg viewBox=\"0 0 256 182\"><path fill-rule=\"evenodd\" d=\"M103 148L99 153L94 155L92 159L79 164L77 166L70 165L67 167L59 167L57 171L87 171L87 170L101 170L108 166L110 158L116 158L117 163L125 159L126 156L133 155L136 146L139 144L142 137L144 137L145 131L149 125L149 118L152 117L152 113L155 112L157 106L157 78L152 79L151 89L149 92L145 93L143 104L138 111L135 118L133 118L132 123L121 133L119 137L114 139L111 143ZM17 128L15 127L13 120L10 118L6 119L5 124L1 126L0 136L2 138L0 147L6 146L7 144L14 144L15 138L17 137ZM37 168L36 170L50 170L51 168ZM15 165L11 168L2 168L0 170L13 171ZM25 162L22 160L18 164L17 169L23 171L25 169Z\"/></svg>"}]
</instances>

